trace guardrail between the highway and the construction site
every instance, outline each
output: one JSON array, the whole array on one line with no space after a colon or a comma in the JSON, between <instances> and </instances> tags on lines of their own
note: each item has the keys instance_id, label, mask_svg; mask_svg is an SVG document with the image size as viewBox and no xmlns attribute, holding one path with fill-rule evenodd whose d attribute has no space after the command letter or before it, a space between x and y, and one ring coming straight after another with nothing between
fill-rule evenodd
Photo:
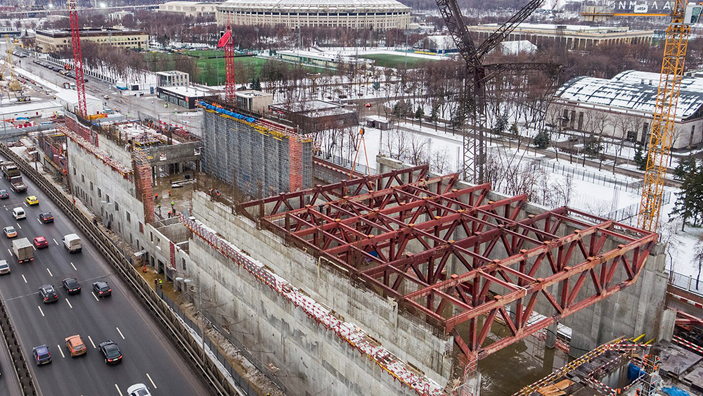
<instances>
[{"instance_id":1,"label":"guardrail between the highway and the construction site","mask_svg":"<svg viewBox=\"0 0 703 396\"><path fill-rule=\"evenodd\" d=\"M0 153L9 160L13 160L20 170L48 194L54 203L96 245L96 248L100 250L105 259L117 270L117 274L120 274L124 281L131 286L134 293L138 296L138 300L153 314L157 323L162 326L165 333L174 341L179 352L202 375L211 388L212 395L240 395L235 385L219 370L217 362L214 362L211 356L202 356L198 352L200 350L200 342L179 319L178 315L170 309L169 305L157 295L156 290L151 288L147 281L137 272L136 268L127 260L127 257L124 257L120 248L113 243L110 237L103 234L101 229L92 224L92 218L89 219L83 212L78 210L63 192L51 184L43 174L30 167L25 160L22 160L19 155L11 151L4 143L0 143ZM26 370L26 363L24 367ZM27 395L33 394L29 393Z\"/></svg>"}]
</instances>

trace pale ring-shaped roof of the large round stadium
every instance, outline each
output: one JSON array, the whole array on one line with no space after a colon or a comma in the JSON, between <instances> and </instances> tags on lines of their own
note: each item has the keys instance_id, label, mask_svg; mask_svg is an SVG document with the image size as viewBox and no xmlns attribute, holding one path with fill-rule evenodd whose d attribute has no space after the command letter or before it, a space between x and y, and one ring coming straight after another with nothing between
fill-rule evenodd
<instances>
[{"instance_id":1,"label":"pale ring-shaped roof of the large round stadium","mask_svg":"<svg viewBox=\"0 0 703 396\"><path fill-rule=\"evenodd\" d=\"M266 8L294 11L297 9L335 10L401 10L411 8L395 0L227 0L219 8Z\"/></svg>"}]
</instances>

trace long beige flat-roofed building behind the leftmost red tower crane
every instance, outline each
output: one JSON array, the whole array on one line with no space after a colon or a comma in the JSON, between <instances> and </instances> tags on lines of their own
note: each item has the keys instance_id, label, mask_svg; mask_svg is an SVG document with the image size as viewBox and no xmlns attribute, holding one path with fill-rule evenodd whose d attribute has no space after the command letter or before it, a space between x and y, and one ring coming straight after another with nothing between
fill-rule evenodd
<instances>
[{"instance_id":1,"label":"long beige flat-roofed building behind the leftmost red tower crane","mask_svg":"<svg viewBox=\"0 0 703 396\"><path fill-rule=\"evenodd\" d=\"M149 34L144 30L115 29L114 27L86 27L80 30L81 39L125 49L149 49ZM36 47L42 53L70 50L70 29L37 30Z\"/></svg>"}]
</instances>

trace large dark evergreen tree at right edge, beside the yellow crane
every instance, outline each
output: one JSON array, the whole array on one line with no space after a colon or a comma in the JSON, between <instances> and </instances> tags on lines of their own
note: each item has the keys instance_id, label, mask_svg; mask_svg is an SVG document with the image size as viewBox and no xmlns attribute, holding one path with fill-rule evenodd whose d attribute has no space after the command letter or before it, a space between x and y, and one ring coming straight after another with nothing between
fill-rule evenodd
<instances>
[{"instance_id":1,"label":"large dark evergreen tree at right edge, beside the yellow crane","mask_svg":"<svg viewBox=\"0 0 703 396\"><path fill-rule=\"evenodd\" d=\"M673 178L681 181L681 191L675 193L676 202L669 215L683 219L683 231L686 222L697 226L703 219L703 166L695 158L685 158L674 170Z\"/></svg>"}]
</instances>

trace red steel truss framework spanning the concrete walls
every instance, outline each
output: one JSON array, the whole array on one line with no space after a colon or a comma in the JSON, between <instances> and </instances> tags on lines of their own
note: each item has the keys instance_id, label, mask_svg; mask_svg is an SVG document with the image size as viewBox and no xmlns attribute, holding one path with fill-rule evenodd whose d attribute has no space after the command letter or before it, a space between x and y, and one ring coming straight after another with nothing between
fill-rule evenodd
<instances>
[{"instance_id":1,"label":"red steel truss framework spanning the concrete walls","mask_svg":"<svg viewBox=\"0 0 703 396\"><path fill-rule=\"evenodd\" d=\"M420 166L239 210L443 328L468 362L630 286L657 241L568 207L529 215L527 196L489 190ZM541 299L550 316L529 321ZM496 322L508 336L489 337Z\"/></svg>"}]
</instances>

